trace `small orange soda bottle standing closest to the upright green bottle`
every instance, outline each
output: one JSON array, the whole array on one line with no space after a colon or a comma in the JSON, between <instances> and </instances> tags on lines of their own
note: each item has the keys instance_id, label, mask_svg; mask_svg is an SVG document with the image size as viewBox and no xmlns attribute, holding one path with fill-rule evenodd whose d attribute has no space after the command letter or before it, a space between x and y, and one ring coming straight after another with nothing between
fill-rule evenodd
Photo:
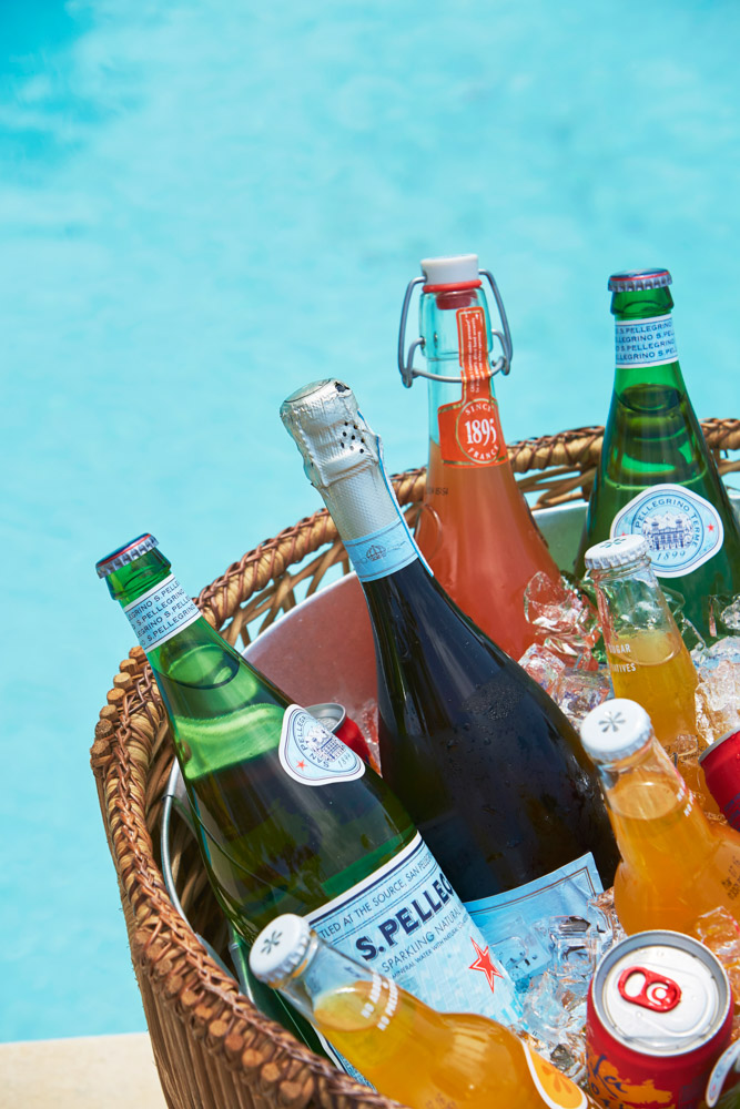
<instances>
[{"instance_id":1,"label":"small orange soda bottle standing closest to the upright green bottle","mask_svg":"<svg viewBox=\"0 0 740 1109\"><path fill-rule=\"evenodd\" d=\"M652 569L647 539L639 535L607 539L586 551L585 563L596 587L616 696L642 705L702 808L719 815L698 759L685 754L687 741L695 751L699 741L695 700L699 678Z\"/></svg>"}]
</instances>

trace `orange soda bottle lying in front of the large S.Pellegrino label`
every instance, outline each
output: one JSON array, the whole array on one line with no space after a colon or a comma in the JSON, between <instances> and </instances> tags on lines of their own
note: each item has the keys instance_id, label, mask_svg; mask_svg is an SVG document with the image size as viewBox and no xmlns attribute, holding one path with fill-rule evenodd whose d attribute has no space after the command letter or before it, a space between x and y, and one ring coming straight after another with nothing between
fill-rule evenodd
<instances>
[{"instance_id":1,"label":"orange soda bottle lying in front of the large S.Pellegrino label","mask_svg":"<svg viewBox=\"0 0 740 1109\"><path fill-rule=\"evenodd\" d=\"M585 1109L595 1102L514 1031L439 1013L325 943L293 914L255 939L250 966L378 1092L412 1109Z\"/></svg>"}]
</instances>

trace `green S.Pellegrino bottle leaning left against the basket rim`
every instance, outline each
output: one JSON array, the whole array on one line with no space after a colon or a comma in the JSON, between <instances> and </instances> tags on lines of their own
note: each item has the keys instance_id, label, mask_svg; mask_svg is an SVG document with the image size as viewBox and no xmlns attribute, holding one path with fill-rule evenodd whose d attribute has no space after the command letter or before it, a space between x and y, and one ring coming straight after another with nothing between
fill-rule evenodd
<instances>
[{"instance_id":1,"label":"green S.Pellegrino bottle leaning left against the basket rim","mask_svg":"<svg viewBox=\"0 0 740 1109\"><path fill-rule=\"evenodd\" d=\"M383 779L209 624L151 535L97 569L151 663L237 933L295 913L428 1004L516 1022L508 973Z\"/></svg>"}]
</instances>

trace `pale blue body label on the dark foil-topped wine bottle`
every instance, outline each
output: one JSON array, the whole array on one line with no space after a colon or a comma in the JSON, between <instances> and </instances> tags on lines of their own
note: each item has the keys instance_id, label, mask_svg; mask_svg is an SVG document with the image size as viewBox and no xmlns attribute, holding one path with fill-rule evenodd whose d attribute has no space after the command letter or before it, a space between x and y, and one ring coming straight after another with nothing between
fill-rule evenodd
<instances>
[{"instance_id":1,"label":"pale blue body label on the dark foil-topped wine bottle","mask_svg":"<svg viewBox=\"0 0 740 1109\"><path fill-rule=\"evenodd\" d=\"M547 969L553 916L586 916L588 902L604 892L590 851L516 889L465 903L493 954L523 988Z\"/></svg>"}]
</instances>

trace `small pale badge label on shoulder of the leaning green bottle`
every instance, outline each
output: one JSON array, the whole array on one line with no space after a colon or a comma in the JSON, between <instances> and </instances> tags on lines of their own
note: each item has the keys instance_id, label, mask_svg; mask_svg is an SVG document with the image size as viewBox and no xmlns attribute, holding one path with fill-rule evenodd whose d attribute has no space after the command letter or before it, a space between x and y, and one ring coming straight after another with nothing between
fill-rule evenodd
<instances>
[{"instance_id":1,"label":"small pale badge label on shoulder of the leaning green bottle","mask_svg":"<svg viewBox=\"0 0 740 1109\"><path fill-rule=\"evenodd\" d=\"M365 773L359 755L297 704L285 710L277 754L285 773L302 785L354 782Z\"/></svg>"}]
</instances>

